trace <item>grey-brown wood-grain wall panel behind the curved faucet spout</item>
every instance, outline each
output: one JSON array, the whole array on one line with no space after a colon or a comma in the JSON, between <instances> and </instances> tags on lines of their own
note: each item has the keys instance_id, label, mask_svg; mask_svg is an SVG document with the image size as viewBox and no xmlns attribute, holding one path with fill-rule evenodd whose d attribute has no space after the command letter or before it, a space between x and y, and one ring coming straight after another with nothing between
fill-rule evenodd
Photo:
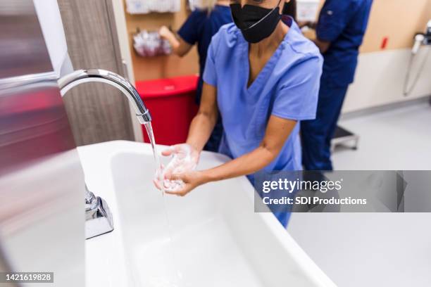
<instances>
[{"instance_id":1,"label":"grey-brown wood-grain wall panel behind the curved faucet spout","mask_svg":"<svg viewBox=\"0 0 431 287\"><path fill-rule=\"evenodd\" d=\"M58 0L58 6L73 68L101 68L122 75L111 0ZM108 84L81 84L68 91L64 102L77 146L134 140L128 102Z\"/></svg>"}]
</instances>

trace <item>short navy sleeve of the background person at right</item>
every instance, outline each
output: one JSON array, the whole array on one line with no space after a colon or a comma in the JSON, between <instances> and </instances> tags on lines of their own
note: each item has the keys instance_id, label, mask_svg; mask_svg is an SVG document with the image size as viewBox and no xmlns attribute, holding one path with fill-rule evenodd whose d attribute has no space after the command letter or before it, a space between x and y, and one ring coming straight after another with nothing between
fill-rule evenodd
<instances>
[{"instance_id":1,"label":"short navy sleeve of the background person at right","mask_svg":"<svg viewBox=\"0 0 431 287\"><path fill-rule=\"evenodd\" d=\"M351 14L356 11L355 0L326 0L320 11L316 28L318 39L333 42L349 23Z\"/></svg>"}]
</instances>

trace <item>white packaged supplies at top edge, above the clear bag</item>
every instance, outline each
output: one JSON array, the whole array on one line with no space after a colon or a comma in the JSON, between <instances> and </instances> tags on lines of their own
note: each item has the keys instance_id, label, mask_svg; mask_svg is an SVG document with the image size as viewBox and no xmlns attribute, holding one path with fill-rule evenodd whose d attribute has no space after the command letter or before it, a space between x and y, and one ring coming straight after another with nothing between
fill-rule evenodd
<instances>
[{"instance_id":1,"label":"white packaged supplies at top edge, above the clear bag","mask_svg":"<svg viewBox=\"0 0 431 287\"><path fill-rule=\"evenodd\" d=\"M126 0L126 7L130 14L175 13L180 11L181 0Z\"/></svg>"}]
</instances>

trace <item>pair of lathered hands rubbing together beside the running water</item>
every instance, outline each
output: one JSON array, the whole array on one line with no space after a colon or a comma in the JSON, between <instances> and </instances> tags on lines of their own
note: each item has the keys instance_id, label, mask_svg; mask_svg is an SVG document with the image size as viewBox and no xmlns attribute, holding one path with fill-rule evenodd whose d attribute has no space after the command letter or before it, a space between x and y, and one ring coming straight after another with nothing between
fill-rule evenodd
<instances>
[{"instance_id":1,"label":"pair of lathered hands rubbing together beside the running water","mask_svg":"<svg viewBox=\"0 0 431 287\"><path fill-rule=\"evenodd\" d=\"M177 144L162 152L164 156L172 156L169 164L158 171L154 184L158 189L165 190L166 193L184 196L188 183L190 182L189 173L193 173L199 161L199 152L189 144ZM162 176L160 177L160 172ZM184 177L184 179L182 178ZM163 182L161 182L161 180Z\"/></svg>"}]
</instances>

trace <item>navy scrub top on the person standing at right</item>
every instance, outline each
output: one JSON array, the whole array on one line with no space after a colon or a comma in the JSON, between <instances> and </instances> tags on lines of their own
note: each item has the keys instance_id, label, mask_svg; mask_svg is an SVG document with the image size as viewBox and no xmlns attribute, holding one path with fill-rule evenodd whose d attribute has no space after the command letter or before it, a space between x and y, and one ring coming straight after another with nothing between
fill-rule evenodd
<instances>
[{"instance_id":1,"label":"navy scrub top on the person standing at right","mask_svg":"<svg viewBox=\"0 0 431 287\"><path fill-rule=\"evenodd\" d=\"M326 0L320 11L316 34L331 42L323 54L322 79L334 87L354 82L359 46L368 25L373 0Z\"/></svg>"}]
</instances>

